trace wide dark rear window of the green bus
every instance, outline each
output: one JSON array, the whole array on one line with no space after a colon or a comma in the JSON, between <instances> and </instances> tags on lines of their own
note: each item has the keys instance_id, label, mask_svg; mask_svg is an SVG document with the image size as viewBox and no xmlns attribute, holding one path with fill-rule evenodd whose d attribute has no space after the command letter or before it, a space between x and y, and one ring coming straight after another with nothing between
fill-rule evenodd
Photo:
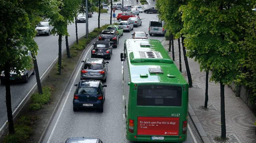
<instances>
[{"instance_id":1,"label":"wide dark rear window of the green bus","mask_svg":"<svg viewBox=\"0 0 256 143\"><path fill-rule=\"evenodd\" d=\"M143 85L138 87L139 106L181 106L182 89L179 86Z\"/></svg>"}]
</instances>

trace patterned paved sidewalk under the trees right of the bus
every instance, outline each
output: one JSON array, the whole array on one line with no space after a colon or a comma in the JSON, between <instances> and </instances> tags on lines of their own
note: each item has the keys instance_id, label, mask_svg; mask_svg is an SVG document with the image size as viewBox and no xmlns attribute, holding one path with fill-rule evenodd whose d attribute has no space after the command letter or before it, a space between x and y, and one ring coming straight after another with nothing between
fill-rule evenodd
<instances>
[{"instance_id":1,"label":"patterned paved sidewalk under the trees right of the bus","mask_svg":"<svg viewBox=\"0 0 256 143\"><path fill-rule=\"evenodd\" d=\"M168 51L169 41L163 40L163 46ZM175 64L179 68L178 40L174 40ZM172 57L172 52L169 52ZM187 79L181 47L182 74ZM189 115L195 123L199 134L205 143L221 143L214 140L221 136L221 105L220 84L209 82L208 85L208 108L203 108L205 99L205 72L200 72L198 62L188 58L192 76L193 87L189 88ZM209 72L209 79L211 73ZM254 122L256 118L244 101L235 97L235 93L227 86L225 92L225 116L227 143L255 143L256 135Z\"/></svg>"}]
</instances>

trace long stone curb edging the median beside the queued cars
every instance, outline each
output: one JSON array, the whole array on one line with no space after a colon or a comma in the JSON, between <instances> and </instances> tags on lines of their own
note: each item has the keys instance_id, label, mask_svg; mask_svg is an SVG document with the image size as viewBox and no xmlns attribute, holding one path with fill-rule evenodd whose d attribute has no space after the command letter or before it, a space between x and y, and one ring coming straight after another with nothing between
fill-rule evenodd
<instances>
[{"instance_id":1,"label":"long stone curb edging the median beside the queued cars","mask_svg":"<svg viewBox=\"0 0 256 143\"><path fill-rule=\"evenodd\" d=\"M90 33L90 32L89 32L89 33ZM85 36L85 35L83 35L83 36ZM81 36L81 37L83 37L83 36ZM80 38L81 38L81 37L80 37ZM78 62L76 63L75 69L74 69L73 72L71 73L71 76L70 76L70 78L69 78L69 80L68 80L68 82L67 82L67 84L66 84L66 86L65 86L65 89L66 89L66 87L70 84L70 80L71 80L71 78L73 77L73 75L74 75L75 70L77 69L77 67L81 66L81 64L79 64L79 63L80 63L79 61L81 61L82 56L84 55L85 51L87 50L88 47L90 47L90 45L92 45L93 41L96 40L96 39L97 39L97 37L96 37L95 39L93 39L93 40L85 47L83 53L82 53L81 56L79 57ZM74 44L74 43L73 43L73 44ZM45 128L44 128L44 131L43 131L42 135L40 136L40 138L39 138L39 140L38 140L38 143L41 143L41 142L42 142L42 139L45 138L45 135L46 135L45 133L46 133L46 131L48 130L50 123L51 123L52 120L53 120L53 116L54 116L54 114L56 113L57 108L59 107L59 103L60 103L60 102L62 101L62 99L63 99L63 95L64 95L65 91L66 91L66 90L63 90L63 92L61 93L61 95L60 95L60 97L59 97L59 99L58 99L58 102L56 103L56 106L55 106L54 109L53 109L53 113L52 113L51 117L49 118L49 120L48 120L48 122L47 122L47 124L46 124L46 126L45 126Z\"/></svg>"}]
</instances>

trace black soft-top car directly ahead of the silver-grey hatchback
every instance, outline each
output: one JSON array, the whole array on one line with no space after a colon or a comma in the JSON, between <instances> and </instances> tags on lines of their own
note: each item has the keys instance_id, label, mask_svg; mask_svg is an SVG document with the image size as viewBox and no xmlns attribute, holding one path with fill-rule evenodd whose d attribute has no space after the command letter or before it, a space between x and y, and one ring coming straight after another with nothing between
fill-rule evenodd
<instances>
[{"instance_id":1,"label":"black soft-top car directly ahead of the silver-grey hatchback","mask_svg":"<svg viewBox=\"0 0 256 143\"><path fill-rule=\"evenodd\" d=\"M93 45L93 49L91 50L92 58L99 57L111 59L113 48L109 41L98 40Z\"/></svg>"}]
</instances>

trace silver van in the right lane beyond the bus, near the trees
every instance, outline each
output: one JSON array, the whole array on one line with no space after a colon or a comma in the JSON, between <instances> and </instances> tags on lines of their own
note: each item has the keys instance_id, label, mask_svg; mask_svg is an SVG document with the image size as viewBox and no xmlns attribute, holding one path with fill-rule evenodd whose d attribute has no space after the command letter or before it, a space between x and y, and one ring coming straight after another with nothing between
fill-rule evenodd
<instances>
[{"instance_id":1,"label":"silver van in the right lane beyond the bus, near the trees","mask_svg":"<svg viewBox=\"0 0 256 143\"><path fill-rule=\"evenodd\" d=\"M164 21L149 21L148 34L152 36L152 34L160 34L165 35L166 30L163 28L165 22Z\"/></svg>"}]
</instances>

